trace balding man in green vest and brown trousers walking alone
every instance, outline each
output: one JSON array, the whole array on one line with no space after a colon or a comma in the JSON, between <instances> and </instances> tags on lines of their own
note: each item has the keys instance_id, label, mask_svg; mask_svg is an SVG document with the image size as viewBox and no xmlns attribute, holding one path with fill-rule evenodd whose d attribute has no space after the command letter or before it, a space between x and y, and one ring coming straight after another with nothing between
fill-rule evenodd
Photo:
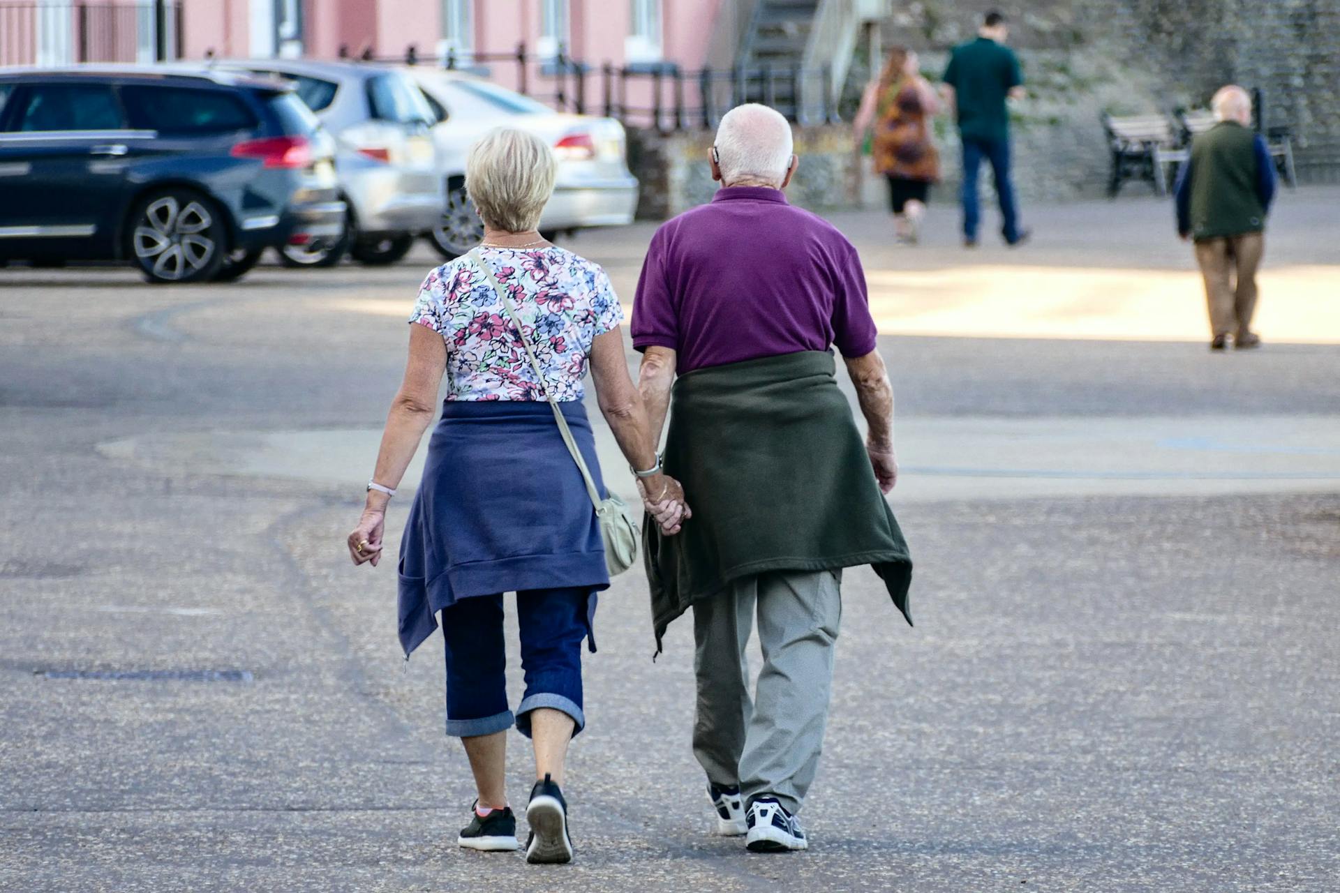
<instances>
[{"instance_id":1,"label":"balding man in green vest and brown trousers walking alone","mask_svg":"<svg viewBox=\"0 0 1340 893\"><path fill-rule=\"evenodd\" d=\"M1210 307L1210 349L1261 345L1252 331L1256 272L1265 252L1265 217L1274 198L1274 162L1253 134L1252 98L1227 86L1211 100L1217 123L1191 143L1177 183L1177 229L1195 240L1195 261ZM1233 280L1237 278L1234 282Z\"/></svg>"}]
</instances>

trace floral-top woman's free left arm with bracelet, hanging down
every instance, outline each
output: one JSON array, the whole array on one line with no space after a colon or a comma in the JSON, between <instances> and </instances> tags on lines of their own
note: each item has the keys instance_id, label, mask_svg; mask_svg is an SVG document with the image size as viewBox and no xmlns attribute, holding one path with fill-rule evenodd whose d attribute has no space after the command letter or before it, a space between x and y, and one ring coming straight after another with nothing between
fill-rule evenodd
<instances>
[{"instance_id":1,"label":"floral-top woman's free left arm with bracelet, hanging down","mask_svg":"<svg viewBox=\"0 0 1340 893\"><path fill-rule=\"evenodd\" d=\"M437 390L446 368L446 343L426 325L410 325L410 356L405 364L405 380L391 400L382 431L382 447L377 454L373 481L394 490L405 477L405 469L418 450L423 432L433 423L437 411ZM378 490L367 491L367 505L358 526L348 534L348 552L354 564L371 561L375 568L382 556L382 534L386 503L391 498Z\"/></svg>"}]
</instances>

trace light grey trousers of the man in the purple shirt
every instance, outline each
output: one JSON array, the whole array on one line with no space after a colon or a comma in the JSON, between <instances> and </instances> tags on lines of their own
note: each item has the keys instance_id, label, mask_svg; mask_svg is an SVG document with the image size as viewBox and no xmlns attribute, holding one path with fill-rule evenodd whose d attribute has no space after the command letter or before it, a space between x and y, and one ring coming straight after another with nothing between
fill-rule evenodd
<instances>
[{"instance_id":1,"label":"light grey trousers of the man in the purple shirt","mask_svg":"<svg viewBox=\"0 0 1340 893\"><path fill-rule=\"evenodd\" d=\"M762 671L750 699L756 609ZM800 811L819 768L840 620L842 570L775 570L694 602L693 754L710 782Z\"/></svg>"}]
</instances>

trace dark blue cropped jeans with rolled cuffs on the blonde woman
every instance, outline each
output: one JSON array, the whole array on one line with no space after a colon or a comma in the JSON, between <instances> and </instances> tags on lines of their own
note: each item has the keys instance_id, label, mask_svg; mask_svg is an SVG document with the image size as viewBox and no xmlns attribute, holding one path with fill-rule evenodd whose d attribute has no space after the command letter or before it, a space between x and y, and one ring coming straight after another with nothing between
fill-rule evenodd
<instances>
[{"instance_id":1,"label":"dark blue cropped jeans with rolled cuffs on the blonde woman","mask_svg":"<svg viewBox=\"0 0 1340 893\"><path fill-rule=\"evenodd\" d=\"M551 707L572 718L582 712L582 640L591 635L595 593L590 589L535 589L516 593L525 695L516 715L508 710L503 596L461 598L442 609L446 643L446 734L492 735L516 723L531 736L531 711ZM592 644L592 651L595 645Z\"/></svg>"}]
</instances>

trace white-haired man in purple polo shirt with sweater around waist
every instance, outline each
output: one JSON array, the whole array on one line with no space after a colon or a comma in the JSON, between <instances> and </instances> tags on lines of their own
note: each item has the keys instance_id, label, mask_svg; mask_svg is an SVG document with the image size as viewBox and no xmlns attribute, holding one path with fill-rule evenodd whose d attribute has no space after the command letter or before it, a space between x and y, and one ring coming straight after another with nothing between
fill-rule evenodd
<instances>
[{"instance_id":1,"label":"white-haired man in purple polo shirt with sweater around waist","mask_svg":"<svg viewBox=\"0 0 1340 893\"><path fill-rule=\"evenodd\" d=\"M880 493L898 477L894 395L856 249L783 195L796 170L787 120L733 108L710 165L721 189L657 230L632 312L651 431L673 408L665 470L694 506L678 537L646 529L653 623L659 648L693 609L693 750L717 831L746 834L753 851L800 850L842 569L874 565L911 623L911 561ZM864 443L833 345L870 426ZM756 612L764 665L750 699Z\"/></svg>"}]
</instances>

